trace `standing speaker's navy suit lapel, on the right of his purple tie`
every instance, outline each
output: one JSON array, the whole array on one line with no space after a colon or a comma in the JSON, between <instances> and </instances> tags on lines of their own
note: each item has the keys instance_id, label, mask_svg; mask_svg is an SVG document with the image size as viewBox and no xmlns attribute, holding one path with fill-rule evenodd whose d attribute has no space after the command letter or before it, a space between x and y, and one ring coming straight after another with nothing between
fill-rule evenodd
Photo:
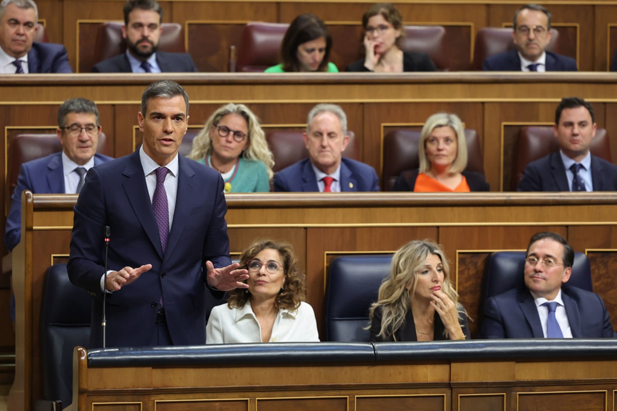
<instances>
[{"instance_id":1,"label":"standing speaker's navy suit lapel, on the right of his purple tie","mask_svg":"<svg viewBox=\"0 0 617 411\"><path fill-rule=\"evenodd\" d=\"M173 247L180 241L184 226L186 226L191 210L195 206L194 199L196 196L193 193L194 175L195 172L189 167L188 162L178 154L178 193L176 194L176 208L173 212L172 230L167 239L165 255L171 255ZM181 200L179 201L178 199Z\"/></svg>"}]
</instances>

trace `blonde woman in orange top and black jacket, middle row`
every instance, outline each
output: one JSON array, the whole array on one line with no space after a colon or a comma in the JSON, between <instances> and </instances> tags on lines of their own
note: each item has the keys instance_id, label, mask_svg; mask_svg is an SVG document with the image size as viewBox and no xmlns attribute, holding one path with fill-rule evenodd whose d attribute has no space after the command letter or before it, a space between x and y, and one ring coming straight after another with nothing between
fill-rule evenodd
<instances>
[{"instance_id":1,"label":"blonde woman in orange top and black jacket, middle row","mask_svg":"<svg viewBox=\"0 0 617 411\"><path fill-rule=\"evenodd\" d=\"M456 114L431 115L418 142L420 168L402 172L392 191L489 191L484 175L465 171L467 143L463 123Z\"/></svg>"}]
</instances>

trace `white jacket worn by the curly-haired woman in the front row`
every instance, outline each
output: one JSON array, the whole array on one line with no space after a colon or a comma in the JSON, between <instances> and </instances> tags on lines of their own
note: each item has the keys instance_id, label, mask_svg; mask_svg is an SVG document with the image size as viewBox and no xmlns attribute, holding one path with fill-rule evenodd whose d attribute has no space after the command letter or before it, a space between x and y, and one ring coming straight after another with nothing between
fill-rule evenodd
<instances>
[{"instance_id":1,"label":"white jacket worn by the curly-haired woman in the front row","mask_svg":"<svg viewBox=\"0 0 617 411\"><path fill-rule=\"evenodd\" d=\"M241 309L227 304L212 309L205 328L206 344L231 344L236 342L262 342L262 328L248 302ZM315 312L306 302L297 310L279 310L276 314L269 342L319 341Z\"/></svg>"}]
</instances>

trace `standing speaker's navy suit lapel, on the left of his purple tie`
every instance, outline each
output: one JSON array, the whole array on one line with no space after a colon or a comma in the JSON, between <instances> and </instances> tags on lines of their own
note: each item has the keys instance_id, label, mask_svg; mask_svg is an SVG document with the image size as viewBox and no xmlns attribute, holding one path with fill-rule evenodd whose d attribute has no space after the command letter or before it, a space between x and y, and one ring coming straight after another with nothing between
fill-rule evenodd
<instances>
[{"instance_id":1,"label":"standing speaker's navy suit lapel, on the left of his purple tie","mask_svg":"<svg viewBox=\"0 0 617 411\"><path fill-rule=\"evenodd\" d=\"M159 227L154 219L152 202L148 195L146 178L144 178L144 169L141 167L141 160L139 160L139 150L130 155L122 174L125 176L122 186L126 197L128 197L139 223L143 226L152 245L162 259L163 248L160 245Z\"/></svg>"}]
</instances>

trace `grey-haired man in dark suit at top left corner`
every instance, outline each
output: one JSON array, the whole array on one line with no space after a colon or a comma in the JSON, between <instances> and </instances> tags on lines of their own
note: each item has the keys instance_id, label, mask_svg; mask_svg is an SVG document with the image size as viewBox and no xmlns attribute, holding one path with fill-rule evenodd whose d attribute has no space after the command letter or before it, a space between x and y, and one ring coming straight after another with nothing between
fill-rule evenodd
<instances>
[{"instance_id":1,"label":"grey-haired man in dark suit at top left corner","mask_svg":"<svg viewBox=\"0 0 617 411\"><path fill-rule=\"evenodd\" d=\"M72 73L62 44L36 43L38 9L33 0L0 3L0 73Z\"/></svg>"}]
</instances>

